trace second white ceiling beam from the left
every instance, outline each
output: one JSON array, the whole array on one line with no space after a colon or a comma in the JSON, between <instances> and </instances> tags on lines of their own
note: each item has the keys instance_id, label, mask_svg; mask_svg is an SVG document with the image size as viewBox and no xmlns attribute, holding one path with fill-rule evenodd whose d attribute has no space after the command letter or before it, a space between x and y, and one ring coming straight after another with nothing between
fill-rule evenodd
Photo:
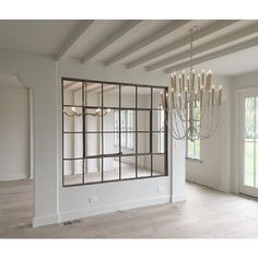
<instances>
[{"instance_id":1,"label":"second white ceiling beam from the left","mask_svg":"<svg viewBox=\"0 0 258 258\"><path fill-rule=\"evenodd\" d=\"M121 38L125 34L130 32L134 26L137 26L141 21L128 21L126 24L117 32L115 32L113 35L108 36L103 40L99 45L97 45L94 49L92 49L90 52L87 52L81 60L82 63L85 63L86 61L91 60L93 57L95 57L98 52L106 49L108 46L110 46L113 43Z\"/></svg>"}]
</instances>

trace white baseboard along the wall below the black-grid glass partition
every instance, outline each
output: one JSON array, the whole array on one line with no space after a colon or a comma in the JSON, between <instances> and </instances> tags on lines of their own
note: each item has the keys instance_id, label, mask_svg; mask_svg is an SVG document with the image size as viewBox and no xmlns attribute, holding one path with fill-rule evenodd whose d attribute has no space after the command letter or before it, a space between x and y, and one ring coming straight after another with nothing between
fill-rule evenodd
<instances>
[{"instance_id":1,"label":"white baseboard along the wall below the black-grid glass partition","mask_svg":"<svg viewBox=\"0 0 258 258\"><path fill-rule=\"evenodd\" d=\"M92 215L105 214L109 212L120 211L120 210L130 210L140 207L156 206L162 203L167 203L171 201L169 196L162 196L155 198L149 198L143 200L137 200L131 202L117 203L113 206L102 206L91 209L73 210L69 212L61 212L59 214L59 222L71 221L75 219L82 219Z\"/></svg>"}]
</instances>

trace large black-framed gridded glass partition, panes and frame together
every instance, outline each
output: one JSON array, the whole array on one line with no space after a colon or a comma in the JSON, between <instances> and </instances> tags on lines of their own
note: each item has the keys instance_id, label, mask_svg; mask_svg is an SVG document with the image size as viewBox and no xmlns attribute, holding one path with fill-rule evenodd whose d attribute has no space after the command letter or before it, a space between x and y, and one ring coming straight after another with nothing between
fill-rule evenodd
<instances>
[{"instance_id":1,"label":"large black-framed gridded glass partition, panes and frame together","mask_svg":"<svg viewBox=\"0 0 258 258\"><path fill-rule=\"evenodd\" d=\"M62 184L167 175L167 87L62 79Z\"/></svg>"}]
</instances>

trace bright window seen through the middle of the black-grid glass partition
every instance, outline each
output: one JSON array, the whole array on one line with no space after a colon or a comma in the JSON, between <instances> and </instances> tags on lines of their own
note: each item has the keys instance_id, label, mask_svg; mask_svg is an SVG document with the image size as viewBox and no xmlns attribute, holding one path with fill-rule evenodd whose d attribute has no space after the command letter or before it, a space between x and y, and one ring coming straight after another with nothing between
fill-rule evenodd
<instances>
[{"instance_id":1,"label":"bright window seen through the middle of the black-grid glass partition","mask_svg":"<svg viewBox=\"0 0 258 258\"><path fill-rule=\"evenodd\" d=\"M133 149L133 113L132 110L121 110L121 131L127 132L121 134L121 146ZM115 110L115 131L119 131L119 110ZM116 134L115 145L119 145L119 134Z\"/></svg>"}]
</instances>

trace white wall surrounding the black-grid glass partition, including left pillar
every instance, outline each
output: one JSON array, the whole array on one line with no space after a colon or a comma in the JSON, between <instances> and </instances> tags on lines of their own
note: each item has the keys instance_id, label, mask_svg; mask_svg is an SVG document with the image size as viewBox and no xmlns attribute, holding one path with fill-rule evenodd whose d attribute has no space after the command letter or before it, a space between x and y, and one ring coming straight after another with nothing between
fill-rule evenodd
<instances>
[{"instance_id":1,"label":"white wall surrounding the black-grid glass partition, including left pillar","mask_svg":"<svg viewBox=\"0 0 258 258\"><path fill-rule=\"evenodd\" d=\"M52 57L16 51L0 51L0 73L17 75L24 86L34 91L34 226L89 214L168 202L173 196L179 196L185 191L185 163L180 164L177 160L174 160L174 164L177 165L173 166L175 171L171 171L169 166L168 177L71 188L61 186L60 78L168 85L167 75L93 64L81 66L77 62L59 63L57 67ZM184 155L184 150L183 145L177 149L177 155ZM174 152L172 153L174 155ZM172 188L172 172L173 175L177 174L177 177L174 177L174 184L179 186L177 188ZM98 201L89 202L92 196L97 196Z\"/></svg>"}]
</instances>

